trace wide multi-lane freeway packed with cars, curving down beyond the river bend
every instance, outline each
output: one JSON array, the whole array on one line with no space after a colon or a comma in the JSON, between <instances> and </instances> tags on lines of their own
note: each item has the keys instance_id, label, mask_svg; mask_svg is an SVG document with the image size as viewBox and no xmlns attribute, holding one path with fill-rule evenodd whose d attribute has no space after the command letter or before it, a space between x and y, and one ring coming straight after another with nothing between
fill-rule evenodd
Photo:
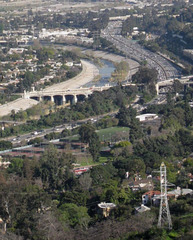
<instances>
[{"instance_id":1,"label":"wide multi-lane freeway packed with cars, curving down beyond the river bend","mask_svg":"<svg viewBox=\"0 0 193 240\"><path fill-rule=\"evenodd\" d=\"M180 68L164 57L145 49L136 41L123 37L121 35L121 24L121 21L109 22L108 26L102 31L101 36L111 41L128 58L138 62L147 61L148 67L157 70L158 81L177 78L181 75Z\"/></svg>"}]
</instances>

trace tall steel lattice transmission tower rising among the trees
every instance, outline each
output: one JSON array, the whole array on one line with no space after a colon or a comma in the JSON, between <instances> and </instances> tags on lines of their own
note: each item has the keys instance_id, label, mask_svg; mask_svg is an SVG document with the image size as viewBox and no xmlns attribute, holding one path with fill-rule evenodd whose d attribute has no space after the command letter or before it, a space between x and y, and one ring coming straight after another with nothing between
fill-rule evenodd
<instances>
[{"instance_id":1,"label":"tall steel lattice transmission tower rising among the trees","mask_svg":"<svg viewBox=\"0 0 193 240\"><path fill-rule=\"evenodd\" d=\"M160 187L161 187L161 201L159 210L158 227L167 227L172 229L172 220L170 216L170 210L167 198L167 177L166 177L166 166L162 162L160 166Z\"/></svg>"}]
</instances>

